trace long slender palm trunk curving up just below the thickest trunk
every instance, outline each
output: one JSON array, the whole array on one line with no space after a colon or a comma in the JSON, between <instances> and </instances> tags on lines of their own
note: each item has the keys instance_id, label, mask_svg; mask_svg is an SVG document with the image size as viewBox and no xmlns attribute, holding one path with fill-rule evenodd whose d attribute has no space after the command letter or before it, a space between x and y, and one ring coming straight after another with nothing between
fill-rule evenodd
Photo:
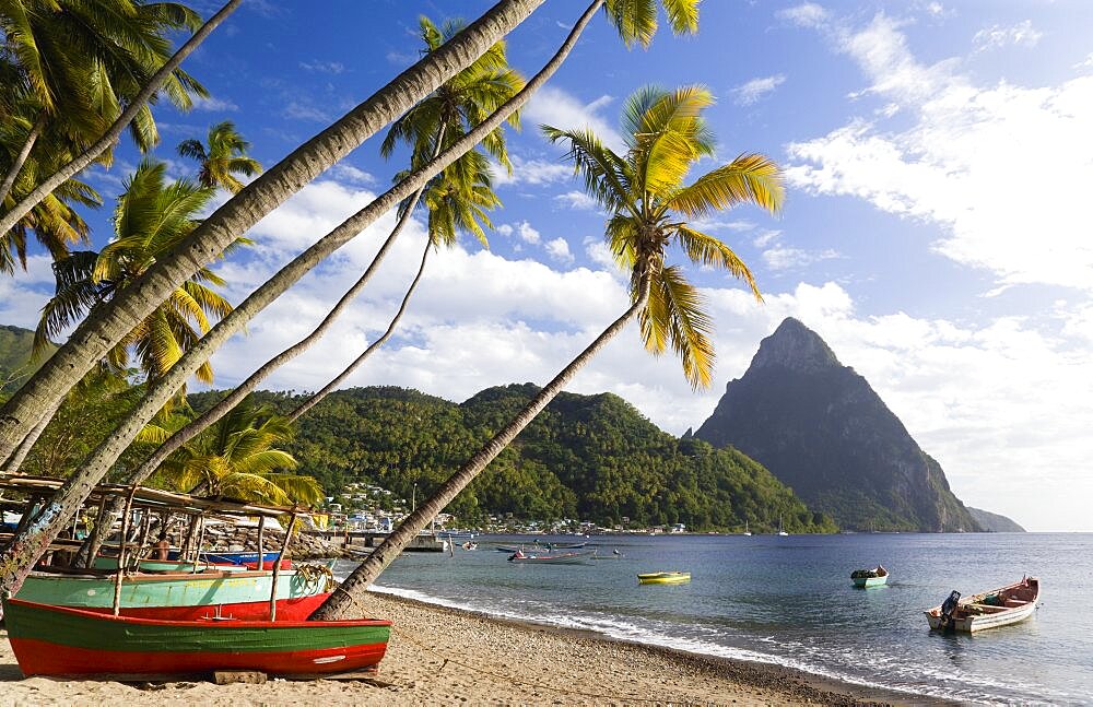
<instances>
[{"instance_id":1,"label":"long slender palm trunk curving up just below the thickest trunk","mask_svg":"<svg viewBox=\"0 0 1093 707\"><path fill-rule=\"evenodd\" d=\"M534 2L536 0L531 1ZM538 1L541 2L542 0ZM80 504L91 494L94 485L106 474L110 466L117 461L121 452L126 450L155 412L171 399L174 392L186 382L187 378L197 370L201 363L207 361L233 333L279 297L293 283L304 276L324 258L374 223L376 219L392 209L399 201L406 199L418 189L423 188L430 179L466 154L475 144L481 142L486 134L507 120L510 115L519 110L531 98L534 92L562 66L574 45L576 45L580 33L602 4L603 0L593 0L592 4L589 5L580 16L580 20L574 25L559 51L525 85L524 90L502 105L492 116L479 123L473 130L449 145L436 160L403 179L395 188L377 198L354 216L351 216L334 228L334 231L297 256L291 263L282 268L281 271L270 278L262 286L251 293L246 301L224 317L197 344L191 346L172 366L167 374L156 380L142 401L130 412L129 417L122 421L115 432L84 460L78 473L72 474L66 480L64 484L57 490L49 503L39 511L35 521L25 531L20 533L17 538L13 539L11 547L0 554L0 593L3 591L14 593L19 590L37 557L45 552L49 543L57 537L57 533L72 519L79 510ZM462 35L460 34L459 36ZM437 52L443 49L444 47ZM430 56L433 56L433 54ZM268 177L272 172L273 169L267 172L266 176ZM251 182L252 185L254 182ZM247 189L249 188L247 187ZM246 193L247 189L240 193ZM196 231L200 231L200 227ZM127 288L127 291L132 290L139 291L141 287L133 285ZM63 349L55 353L49 361L52 362L56 360L61 351ZM0 411L0 414L4 412L7 412L7 409ZM3 422L3 417L0 416L0 425ZM15 422L19 423L17 420ZM0 432L2 432L2 428L0 428ZM2 438L0 438L0 441L2 441ZM0 446L0 453L2 453L2 449L3 447Z\"/></svg>"}]
</instances>

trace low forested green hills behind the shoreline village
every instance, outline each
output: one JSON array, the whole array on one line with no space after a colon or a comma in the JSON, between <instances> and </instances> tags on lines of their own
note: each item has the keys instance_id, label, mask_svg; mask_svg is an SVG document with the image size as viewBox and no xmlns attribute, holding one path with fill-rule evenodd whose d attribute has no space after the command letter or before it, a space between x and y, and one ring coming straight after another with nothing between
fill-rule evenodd
<instances>
[{"instance_id":1,"label":"low forested green hills behind the shoreline village","mask_svg":"<svg viewBox=\"0 0 1093 707\"><path fill-rule=\"evenodd\" d=\"M536 386L489 388L456 404L401 388L332 393L299 421L292 452L337 493L365 481L428 494L506 424ZM197 410L223 393L196 393ZM258 393L287 411L298 397ZM563 393L449 506L461 518L590 519L645 527L762 532L835 530L766 469L734 449L678 439L618 396ZM627 520L623 520L623 519Z\"/></svg>"}]
</instances>

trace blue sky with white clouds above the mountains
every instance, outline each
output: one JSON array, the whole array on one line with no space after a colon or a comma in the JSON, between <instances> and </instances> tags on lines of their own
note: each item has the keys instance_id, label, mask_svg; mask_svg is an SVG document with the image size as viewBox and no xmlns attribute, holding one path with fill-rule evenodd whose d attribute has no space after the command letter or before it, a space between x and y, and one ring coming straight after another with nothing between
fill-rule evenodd
<instances>
[{"instance_id":1,"label":"blue sky with white clouds above the mountains","mask_svg":"<svg viewBox=\"0 0 1093 707\"><path fill-rule=\"evenodd\" d=\"M212 97L185 114L156 106L154 156L192 177L177 143L232 120L273 165L416 60L419 15L487 7L248 0L184 64ZM545 3L509 35L510 63L533 74L583 8ZM760 152L785 173L778 216L745 207L698 224L750 266L764 303L687 266L717 327L715 384L692 391L678 360L646 353L632 327L568 389L618 393L679 435L797 317L865 376L966 504L1030 530L1093 531L1090 27L1093 3L1078 0L707 0L696 36L662 27L648 50L627 50L598 16L507 133L514 169L495 174L504 205L489 249L465 237L431 256L398 334L346 386L462 401L553 377L626 308L627 281L604 246L606 215L538 127L587 127L618 148L632 92L703 84L717 96L707 118L718 149L698 168ZM385 161L378 145L365 142L215 266L231 301L390 185L406 154ZM109 169L85 176L109 204L140 158L125 143ZM95 248L109 215L86 214ZM384 216L228 342L213 358L216 387L308 333L392 224ZM263 387L314 390L359 355L386 329L424 241L415 220L332 332ZM33 328L51 290L48 257L35 252L25 273L0 279L0 322Z\"/></svg>"}]
</instances>

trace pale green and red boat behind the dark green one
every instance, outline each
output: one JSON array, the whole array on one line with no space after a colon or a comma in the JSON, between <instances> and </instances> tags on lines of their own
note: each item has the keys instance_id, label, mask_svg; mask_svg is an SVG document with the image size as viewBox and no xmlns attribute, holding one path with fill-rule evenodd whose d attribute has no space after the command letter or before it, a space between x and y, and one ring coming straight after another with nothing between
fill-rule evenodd
<instances>
[{"instance_id":1,"label":"pale green and red boat behind the dark green one","mask_svg":"<svg viewBox=\"0 0 1093 707\"><path fill-rule=\"evenodd\" d=\"M15 598L54 606L110 611L115 584L115 577L98 574L33 572ZM120 613L179 621L216 614L268 618L272 589L273 574L260 570L215 568L127 575L121 581ZM306 618L309 610L317 609L328 596L324 575L283 570L277 582L278 615Z\"/></svg>"}]
</instances>

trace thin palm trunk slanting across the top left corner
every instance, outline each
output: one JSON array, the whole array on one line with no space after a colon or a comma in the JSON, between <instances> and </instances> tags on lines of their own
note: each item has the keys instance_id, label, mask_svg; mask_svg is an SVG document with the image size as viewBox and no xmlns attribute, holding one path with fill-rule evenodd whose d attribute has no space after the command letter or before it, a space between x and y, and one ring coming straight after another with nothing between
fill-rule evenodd
<instances>
[{"instance_id":1,"label":"thin palm trunk slanting across the top left corner","mask_svg":"<svg viewBox=\"0 0 1093 707\"><path fill-rule=\"evenodd\" d=\"M212 31L215 30L221 22L227 19L227 15L235 12L235 9L239 7L242 1L243 0L228 0L224 3L224 7L221 8L216 14L209 17L208 22L201 25L201 27L178 48L178 51L176 51L171 59L160 67L158 71L152 74L152 78L149 79L144 87L141 89L140 93L138 93L136 97L133 97L129 106L121 111L121 115L118 116L118 119L114 121L109 129L103 133L102 138L80 153L80 155L67 165L46 178L31 193L23 197L22 201L15 204L11 211L3 214L3 216L0 217L0 233L8 233L12 226L19 223L20 219L31 212L31 209L34 209L36 205L42 203L43 199L52 193L54 189L64 184L68 179L74 177L77 173L94 162L101 154L106 152L106 150L114 146L114 143L117 142L119 137L121 137L121 131L125 130L126 127L132 122L132 119L137 116L137 114L144 108L144 105L149 102L152 95L158 91L163 85L163 82L167 80L167 76L169 76L175 69L183 63L183 59L190 56L190 52L192 52L199 44L204 42L204 38L212 34ZM30 153L30 150L27 150L27 153ZM14 179L12 179L12 181L14 181ZM4 196L7 196L7 192L0 192L0 203L3 202Z\"/></svg>"}]
</instances>

